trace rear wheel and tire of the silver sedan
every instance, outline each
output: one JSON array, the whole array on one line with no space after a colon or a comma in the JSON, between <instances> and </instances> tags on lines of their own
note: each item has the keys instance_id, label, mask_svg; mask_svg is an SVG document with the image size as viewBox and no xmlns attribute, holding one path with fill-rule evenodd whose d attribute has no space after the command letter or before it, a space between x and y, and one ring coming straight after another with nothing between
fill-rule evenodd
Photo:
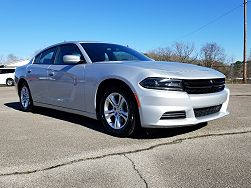
<instances>
[{"instance_id":1,"label":"rear wheel and tire of the silver sedan","mask_svg":"<svg viewBox=\"0 0 251 188\"><path fill-rule=\"evenodd\" d=\"M33 100L27 83L23 83L19 90L19 99L22 110L30 112L33 109Z\"/></svg>"}]
</instances>

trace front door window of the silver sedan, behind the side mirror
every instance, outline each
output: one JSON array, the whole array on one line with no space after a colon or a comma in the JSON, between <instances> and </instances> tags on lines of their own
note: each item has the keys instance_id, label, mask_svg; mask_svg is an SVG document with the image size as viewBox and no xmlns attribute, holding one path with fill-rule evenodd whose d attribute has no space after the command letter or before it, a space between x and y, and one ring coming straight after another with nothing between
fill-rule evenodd
<instances>
[{"instance_id":1,"label":"front door window of the silver sedan, behind the side mirror","mask_svg":"<svg viewBox=\"0 0 251 188\"><path fill-rule=\"evenodd\" d=\"M80 59L84 59L82 53L75 44L67 44L60 46L55 64L64 64L63 57L65 55L76 55L79 56Z\"/></svg>"}]
</instances>

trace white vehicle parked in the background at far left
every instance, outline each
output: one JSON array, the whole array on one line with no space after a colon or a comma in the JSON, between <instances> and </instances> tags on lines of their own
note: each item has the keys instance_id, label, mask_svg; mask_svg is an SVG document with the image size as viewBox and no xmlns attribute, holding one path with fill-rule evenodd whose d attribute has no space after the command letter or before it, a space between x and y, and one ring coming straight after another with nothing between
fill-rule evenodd
<instances>
[{"instance_id":1,"label":"white vehicle parked in the background at far left","mask_svg":"<svg viewBox=\"0 0 251 188\"><path fill-rule=\"evenodd\" d=\"M0 84L14 85L15 68L0 68Z\"/></svg>"}]
</instances>

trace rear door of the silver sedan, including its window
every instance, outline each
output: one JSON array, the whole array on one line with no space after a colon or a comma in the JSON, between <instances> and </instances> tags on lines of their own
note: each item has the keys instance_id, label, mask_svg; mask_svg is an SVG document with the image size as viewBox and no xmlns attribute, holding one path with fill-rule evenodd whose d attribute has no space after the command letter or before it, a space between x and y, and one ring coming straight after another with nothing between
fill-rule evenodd
<instances>
[{"instance_id":1,"label":"rear door of the silver sedan, including its window","mask_svg":"<svg viewBox=\"0 0 251 188\"><path fill-rule=\"evenodd\" d=\"M48 67L54 63L57 48L38 54L33 64L27 67L27 81L35 102L48 104Z\"/></svg>"}]
</instances>

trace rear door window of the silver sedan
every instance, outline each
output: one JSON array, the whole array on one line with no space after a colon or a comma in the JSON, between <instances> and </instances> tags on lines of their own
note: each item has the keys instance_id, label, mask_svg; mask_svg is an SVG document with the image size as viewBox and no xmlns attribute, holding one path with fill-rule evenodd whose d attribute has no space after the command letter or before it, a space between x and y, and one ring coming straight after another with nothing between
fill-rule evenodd
<instances>
[{"instance_id":1,"label":"rear door window of the silver sedan","mask_svg":"<svg viewBox=\"0 0 251 188\"><path fill-rule=\"evenodd\" d=\"M50 48L36 56L35 64L53 64L57 48Z\"/></svg>"}]
</instances>

